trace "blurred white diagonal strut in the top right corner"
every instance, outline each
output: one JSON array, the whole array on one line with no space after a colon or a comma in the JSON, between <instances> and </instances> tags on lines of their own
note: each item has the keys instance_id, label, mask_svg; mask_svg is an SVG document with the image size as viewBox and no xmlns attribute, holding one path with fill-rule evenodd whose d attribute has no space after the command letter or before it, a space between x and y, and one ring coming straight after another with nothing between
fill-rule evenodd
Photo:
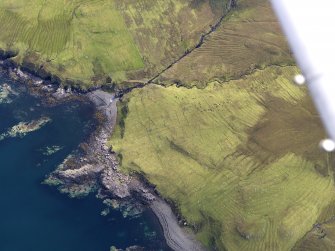
<instances>
[{"instance_id":1,"label":"blurred white diagonal strut in the top right corner","mask_svg":"<svg viewBox=\"0 0 335 251\"><path fill-rule=\"evenodd\" d=\"M335 141L335 1L271 2L322 122Z\"/></svg>"}]
</instances>

